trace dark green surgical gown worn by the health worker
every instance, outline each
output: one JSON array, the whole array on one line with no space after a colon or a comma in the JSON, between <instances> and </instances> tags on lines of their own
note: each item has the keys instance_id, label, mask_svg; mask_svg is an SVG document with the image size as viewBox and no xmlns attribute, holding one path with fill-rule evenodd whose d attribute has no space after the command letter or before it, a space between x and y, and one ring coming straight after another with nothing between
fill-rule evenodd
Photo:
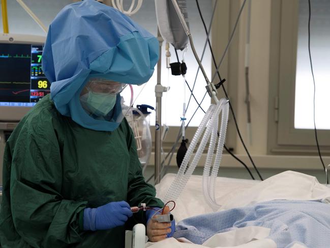
<instances>
[{"instance_id":1,"label":"dark green surgical gown worn by the health worker","mask_svg":"<svg viewBox=\"0 0 330 248\"><path fill-rule=\"evenodd\" d=\"M144 181L134 135L124 119L113 132L79 126L44 97L11 134L5 149L2 247L124 247L127 226L83 231L83 210L127 201L162 207Z\"/></svg>"}]
</instances>

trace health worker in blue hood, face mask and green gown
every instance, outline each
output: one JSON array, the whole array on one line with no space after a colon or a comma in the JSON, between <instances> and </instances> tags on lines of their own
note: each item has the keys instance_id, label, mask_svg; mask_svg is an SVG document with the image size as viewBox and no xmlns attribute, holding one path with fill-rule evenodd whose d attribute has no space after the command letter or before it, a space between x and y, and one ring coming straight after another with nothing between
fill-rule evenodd
<instances>
[{"instance_id":1,"label":"health worker in blue hood, face mask and green gown","mask_svg":"<svg viewBox=\"0 0 330 248\"><path fill-rule=\"evenodd\" d=\"M42 57L50 95L6 144L3 248L124 247L125 230L137 223L150 241L172 235L174 224L156 222L154 210L130 210L164 204L144 180L120 96L149 80L158 49L153 35L95 0L58 13Z\"/></svg>"}]
</instances>

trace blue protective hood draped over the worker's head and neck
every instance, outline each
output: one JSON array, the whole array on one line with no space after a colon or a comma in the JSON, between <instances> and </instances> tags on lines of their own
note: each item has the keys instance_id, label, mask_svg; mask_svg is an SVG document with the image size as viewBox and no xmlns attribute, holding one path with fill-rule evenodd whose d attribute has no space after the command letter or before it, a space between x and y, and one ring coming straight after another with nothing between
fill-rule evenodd
<instances>
[{"instance_id":1,"label":"blue protective hood draped over the worker's head and neck","mask_svg":"<svg viewBox=\"0 0 330 248\"><path fill-rule=\"evenodd\" d=\"M89 116L79 96L89 78L143 84L153 75L159 42L123 13L85 0L66 6L49 26L42 69L57 110L83 127L113 131L122 120L117 95L111 121Z\"/></svg>"}]
</instances>

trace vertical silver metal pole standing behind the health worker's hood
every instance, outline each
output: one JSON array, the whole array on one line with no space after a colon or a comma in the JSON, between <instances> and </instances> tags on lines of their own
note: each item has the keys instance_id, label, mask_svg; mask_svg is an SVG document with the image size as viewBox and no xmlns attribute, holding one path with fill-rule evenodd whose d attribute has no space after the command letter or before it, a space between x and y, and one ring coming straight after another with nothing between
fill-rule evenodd
<instances>
[{"instance_id":1,"label":"vertical silver metal pole standing behind the health worker's hood","mask_svg":"<svg viewBox=\"0 0 330 248\"><path fill-rule=\"evenodd\" d=\"M156 93L156 124L155 124L155 184L160 182L161 172L161 129L162 129L162 96L164 87L161 85L161 70L162 70L162 45L163 38L157 31L159 41L159 61L157 64L157 85L155 87Z\"/></svg>"}]
</instances>

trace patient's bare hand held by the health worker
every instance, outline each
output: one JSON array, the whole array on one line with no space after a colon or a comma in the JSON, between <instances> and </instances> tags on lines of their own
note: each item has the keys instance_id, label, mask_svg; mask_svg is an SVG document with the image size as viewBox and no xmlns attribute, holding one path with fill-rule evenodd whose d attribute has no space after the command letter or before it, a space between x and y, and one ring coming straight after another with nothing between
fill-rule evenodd
<instances>
[{"instance_id":1,"label":"patient's bare hand held by the health worker","mask_svg":"<svg viewBox=\"0 0 330 248\"><path fill-rule=\"evenodd\" d=\"M168 206L164 208L163 213L169 213ZM151 242L165 239L168 233L171 233L171 223L158 223L156 221L156 215L146 225L146 234Z\"/></svg>"}]
</instances>

